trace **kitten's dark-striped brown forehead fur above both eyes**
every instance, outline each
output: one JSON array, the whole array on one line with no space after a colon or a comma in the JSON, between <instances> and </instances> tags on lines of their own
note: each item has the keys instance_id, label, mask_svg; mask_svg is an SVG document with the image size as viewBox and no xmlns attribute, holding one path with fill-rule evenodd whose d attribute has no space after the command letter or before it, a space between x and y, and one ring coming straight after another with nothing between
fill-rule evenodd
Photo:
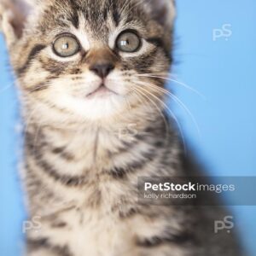
<instances>
[{"instance_id":1,"label":"kitten's dark-striped brown forehead fur above both eyes","mask_svg":"<svg viewBox=\"0 0 256 256\"><path fill-rule=\"evenodd\" d=\"M108 40L109 34L127 22L143 23L143 15L141 18L140 12L135 12L137 3L132 4L131 0L55 0L48 3L40 22L44 32L73 28L84 30L90 38Z\"/></svg>"}]
</instances>

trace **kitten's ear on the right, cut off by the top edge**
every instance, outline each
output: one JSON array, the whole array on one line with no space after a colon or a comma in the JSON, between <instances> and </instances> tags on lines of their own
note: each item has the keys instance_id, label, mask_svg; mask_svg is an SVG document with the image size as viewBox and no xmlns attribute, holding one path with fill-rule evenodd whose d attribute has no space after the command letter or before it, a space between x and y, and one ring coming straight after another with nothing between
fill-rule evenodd
<instances>
[{"instance_id":1,"label":"kitten's ear on the right, cut off by the top edge","mask_svg":"<svg viewBox=\"0 0 256 256\"><path fill-rule=\"evenodd\" d=\"M175 18L174 0L147 0L146 8L154 20L157 20L162 26L171 29Z\"/></svg>"}]
</instances>

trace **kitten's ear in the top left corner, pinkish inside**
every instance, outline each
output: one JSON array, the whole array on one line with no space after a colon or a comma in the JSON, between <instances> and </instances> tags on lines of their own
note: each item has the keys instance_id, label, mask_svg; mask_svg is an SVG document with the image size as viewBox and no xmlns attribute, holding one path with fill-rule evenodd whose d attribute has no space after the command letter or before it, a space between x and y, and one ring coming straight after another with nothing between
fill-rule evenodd
<instances>
[{"instance_id":1,"label":"kitten's ear in the top left corner, pinkish inside","mask_svg":"<svg viewBox=\"0 0 256 256\"><path fill-rule=\"evenodd\" d=\"M32 5L26 0L0 0L0 32L8 45L22 37L31 9Z\"/></svg>"}]
</instances>

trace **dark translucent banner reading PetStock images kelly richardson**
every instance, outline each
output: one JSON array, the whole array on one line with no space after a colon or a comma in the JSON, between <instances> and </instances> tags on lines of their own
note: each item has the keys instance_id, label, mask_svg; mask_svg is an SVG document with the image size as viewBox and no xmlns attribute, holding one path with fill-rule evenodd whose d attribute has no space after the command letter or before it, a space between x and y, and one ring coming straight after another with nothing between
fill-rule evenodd
<instances>
[{"instance_id":1,"label":"dark translucent banner reading PetStock images kelly richardson","mask_svg":"<svg viewBox=\"0 0 256 256\"><path fill-rule=\"evenodd\" d=\"M256 177L138 177L137 186L142 204L193 206L198 198L201 206L256 206ZM219 195L230 200L218 200ZM217 221L216 230L225 227L222 223Z\"/></svg>"}]
</instances>

